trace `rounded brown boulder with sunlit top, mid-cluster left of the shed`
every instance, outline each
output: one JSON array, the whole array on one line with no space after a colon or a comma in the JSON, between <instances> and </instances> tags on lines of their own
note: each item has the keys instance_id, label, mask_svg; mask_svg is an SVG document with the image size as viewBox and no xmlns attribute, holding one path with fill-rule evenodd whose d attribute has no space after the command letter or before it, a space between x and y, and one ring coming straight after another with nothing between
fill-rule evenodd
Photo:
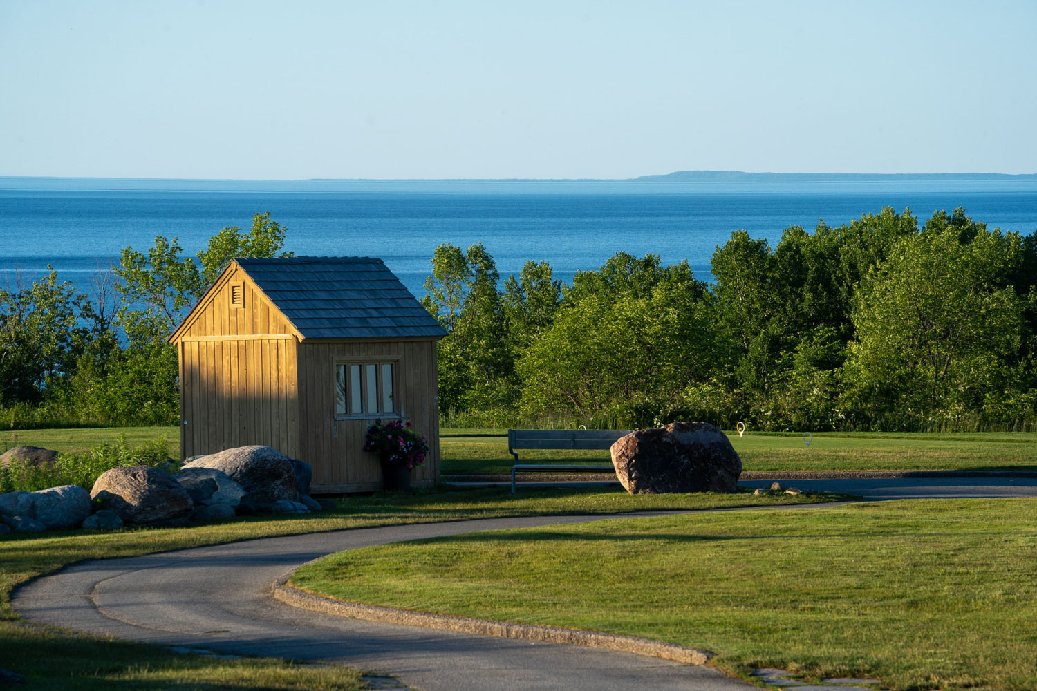
<instances>
[{"instance_id":1,"label":"rounded brown boulder with sunlit top, mid-cluster left of the shed","mask_svg":"<svg viewBox=\"0 0 1037 691\"><path fill-rule=\"evenodd\" d=\"M171 474L150 465L105 470L90 496L127 523L186 525L193 507L188 491Z\"/></svg>"}]
</instances>

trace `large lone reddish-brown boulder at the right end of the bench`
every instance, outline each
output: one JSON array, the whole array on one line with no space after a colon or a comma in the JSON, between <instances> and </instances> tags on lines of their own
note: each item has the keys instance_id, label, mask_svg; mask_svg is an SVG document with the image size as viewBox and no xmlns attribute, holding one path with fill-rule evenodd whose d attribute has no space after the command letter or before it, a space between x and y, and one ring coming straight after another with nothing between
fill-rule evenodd
<instances>
[{"instance_id":1,"label":"large lone reddish-brown boulder at the right end of the bench","mask_svg":"<svg viewBox=\"0 0 1037 691\"><path fill-rule=\"evenodd\" d=\"M734 492L741 459L708 423L638 430L612 444L616 477L630 494Z\"/></svg>"}]
</instances>

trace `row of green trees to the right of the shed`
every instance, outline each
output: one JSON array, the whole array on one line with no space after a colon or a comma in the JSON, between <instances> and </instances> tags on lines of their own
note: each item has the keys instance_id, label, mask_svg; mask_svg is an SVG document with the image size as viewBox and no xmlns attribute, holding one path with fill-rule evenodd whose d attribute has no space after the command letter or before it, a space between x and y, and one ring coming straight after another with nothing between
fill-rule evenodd
<instances>
[{"instance_id":1,"label":"row of green trees to the right of the shed","mask_svg":"<svg viewBox=\"0 0 1037 691\"><path fill-rule=\"evenodd\" d=\"M498 289L481 244L444 244L424 304L448 424L760 430L1037 427L1037 234L905 210L711 260L619 253L571 286L527 262Z\"/></svg>"}]
</instances>

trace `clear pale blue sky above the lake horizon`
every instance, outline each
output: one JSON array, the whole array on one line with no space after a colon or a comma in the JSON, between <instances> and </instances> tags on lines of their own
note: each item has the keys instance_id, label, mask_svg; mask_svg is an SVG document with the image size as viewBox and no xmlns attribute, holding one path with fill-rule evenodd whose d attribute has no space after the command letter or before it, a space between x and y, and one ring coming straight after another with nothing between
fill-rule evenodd
<instances>
[{"instance_id":1,"label":"clear pale blue sky above the lake horizon","mask_svg":"<svg viewBox=\"0 0 1037 691\"><path fill-rule=\"evenodd\" d=\"M0 175L1037 172L1037 2L0 0Z\"/></svg>"}]
</instances>

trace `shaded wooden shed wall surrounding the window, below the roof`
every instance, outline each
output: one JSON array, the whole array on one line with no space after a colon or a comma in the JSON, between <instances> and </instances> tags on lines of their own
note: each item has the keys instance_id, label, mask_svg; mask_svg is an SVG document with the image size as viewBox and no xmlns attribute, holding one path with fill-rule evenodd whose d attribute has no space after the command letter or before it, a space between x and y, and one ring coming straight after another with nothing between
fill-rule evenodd
<instances>
[{"instance_id":1,"label":"shaded wooden shed wall surrounding the window, below the roof","mask_svg":"<svg viewBox=\"0 0 1037 691\"><path fill-rule=\"evenodd\" d=\"M313 466L314 493L360 492L382 487L377 457L363 451L366 420L335 420L335 364L393 361L398 413L428 438L429 454L415 469L415 487L440 476L436 341L341 341L299 345L300 456Z\"/></svg>"}]
</instances>

